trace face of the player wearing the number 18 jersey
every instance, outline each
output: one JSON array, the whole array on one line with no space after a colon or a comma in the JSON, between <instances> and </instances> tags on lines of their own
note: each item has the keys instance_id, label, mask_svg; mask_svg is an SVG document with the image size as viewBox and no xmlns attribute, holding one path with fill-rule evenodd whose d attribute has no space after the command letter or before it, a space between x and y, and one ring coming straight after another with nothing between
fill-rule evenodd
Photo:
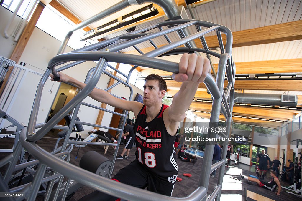
<instances>
[{"instance_id":1,"label":"face of the player wearing the number 18 jersey","mask_svg":"<svg viewBox=\"0 0 302 201\"><path fill-rule=\"evenodd\" d=\"M165 90L159 90L157 80L146 80L144 84L144 98L143 104L146 106L154 105L155 103L162 102L165 96Z\"/></svg>"}]
</instances>

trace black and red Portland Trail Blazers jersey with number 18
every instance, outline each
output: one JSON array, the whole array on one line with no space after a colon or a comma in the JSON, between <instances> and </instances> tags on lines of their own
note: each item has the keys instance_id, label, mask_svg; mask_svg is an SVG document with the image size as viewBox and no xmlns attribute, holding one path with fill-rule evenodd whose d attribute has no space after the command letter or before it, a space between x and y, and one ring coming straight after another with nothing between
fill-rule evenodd
<instances>
[{"instance_id":1,"label":"black and red Portland Trail Blazers jersey with number 18","mask_svg":"<svg viewBox=\"0 0 302 201\"><path fill-rule=\"evenodd\" d=\"M137 162L161 177L178 174L178 166L173 158L176 135L169 135L162 118L168 107L162 105L159 114L152 121L146 122L146 106L143 105L134 126Z\"/></svg>"}]
</instances>

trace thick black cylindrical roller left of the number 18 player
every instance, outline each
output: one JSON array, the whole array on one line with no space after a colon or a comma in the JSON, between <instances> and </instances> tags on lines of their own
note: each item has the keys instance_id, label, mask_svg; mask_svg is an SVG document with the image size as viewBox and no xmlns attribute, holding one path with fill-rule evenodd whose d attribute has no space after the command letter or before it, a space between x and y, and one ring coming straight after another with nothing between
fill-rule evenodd
<instances>
[{"instance_id":1,"label":"thick black cylindrical roller left of the number 18 player","mask_svg":"<svg viewBox=\"0 0 302 201\"><path fill-rule=\"evenodd\" d=\"M86 152L80 160L80 168L108 177L112 162L96 151Z\"/></svg>"}]
</instances>

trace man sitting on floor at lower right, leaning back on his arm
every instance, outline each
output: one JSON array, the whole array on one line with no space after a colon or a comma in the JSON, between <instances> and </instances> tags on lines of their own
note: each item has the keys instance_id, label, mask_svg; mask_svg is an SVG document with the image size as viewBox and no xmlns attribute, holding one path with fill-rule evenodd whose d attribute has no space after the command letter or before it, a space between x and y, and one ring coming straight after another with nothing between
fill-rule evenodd
<instances>
[{"instance_id":1,"label":"man sitting on floor at lower right, leaning back on his arm","mask_svg":"<svg viewBox=\"0 0 302 201\"><path fill-rule=\"evenodd\" d=\"M242 179L244 178L244 179L247 179L249 181L254 181L259 185L259 187L262 187L262 188L265 188L265 189L271 190L271 191L275 191L277 186L278 186L278 192L276 194L280 195L281 184L280 184L280 181L279 181L278 177L276 177L276 172L271 170L270 174L271 174L271 177L273 177L273 178L269 182L260 181L259 179L252 178L252 177L247 177L247 176L242 175L242 174L240 174L240 177Z\"/></svg>"}]
</instances>

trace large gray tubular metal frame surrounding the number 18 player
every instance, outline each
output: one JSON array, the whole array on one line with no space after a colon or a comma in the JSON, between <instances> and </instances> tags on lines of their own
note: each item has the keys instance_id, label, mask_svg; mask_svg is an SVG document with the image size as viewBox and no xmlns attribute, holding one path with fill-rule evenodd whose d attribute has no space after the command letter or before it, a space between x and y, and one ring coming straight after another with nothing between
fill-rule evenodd
<instances>
[{"instance_id":1,"label":"large gray tubular metal frame surrounding the number 18 player","mask_svg":"<svg viewBox=\"0 0 302 201\"><path fill-rule=\"evenodd\" d=\"M195 31L196 33L188 35L189 33L188 29L196 30ZM210 51L207 46L207 42L204 38L205 34L213 34L213 33L217 35L217 39L221 51L220 54L217 52ZM224 43L221 33L224 33L226 35L225 47L223 45ZM174 35L181 36L181 39L172 41L171 38L175 38L173 37ZM157 47L155 45L156 42L154 42L154 40L156 40L156 38L159 37L165 38L168 44L165 46ZM204 48L195 47L194 46L195 39L200 39L201 44L203 45ZM140 44L147 43L147 42L151 43L151 45L153 45L155 49L143 54L143 52L141 52L138 47L140 46ZM42 79L40 80L40 83L37 86L34 105L32 108L30 121L28 123L27 129L23 129L21 131L20 140L16 145L13 154L9 155L8 157L0 161L0 167L9 163L9 167L5 172L3 180L0 178L0 184L1 184L0 187L2 188L1 190L5 190L5 192L22 192L24 193L27 200L34 200L37 196L37 193L39 192L39 188L41 184L45 184L46 182L51 181L48 184L47 189L43 192L46 193L45 200L48 200L50 198L51 192L53 191L52 190L53 185L58 180L58 178L59 178L58 185L60 186L63 182L63 178L67 177L68 182L67 182L67 186L64 189L64 195L62 197L62 200L65 199L71 179L85 186L92 187L95 190L102 191L104 193L114 195L127 200L139 200L139 201L175 200L175 199L196 200L196 201L214 200L214 199L220 200L221 186L222 186L223 174L224 174L224 164L225 164L224 159L226 158L226 151L227 151L226 145L228 144L227 141L225 141L223 144L223 152L222 152L223 159L213 165L212 165L212 157L214 152L214 144L207 142L205 153L204 153L204 160L201 167L201 175L198 184L199 187L193 193L191 193L189 196L185 198L173 198L173 197L163 196L146 190L127 186L126 184L117 183L115 181L111 181L108 178L104 178L96 174L93 174L92 172L86 171L82 168L79 168L75 165L68 163L70 154L69 152L66 152L66 147L70 143L78 144L78 145L86 144L86 145L117 146L117 149L115 150L115 156L112 161L112 166L114 166L118 146L121 140L121 135L118 139L117 144L71 141L69 140L69 137L73 127L72 125L74 125L74 123L77 123L77 124L94 126L104 129L117 130L118 132L121 132L124 128L124 124L127 117L126 114L128 111L123 111L123 113L120 114L82 101L95 88L98 80L101 79L102 73L117 80L117 83L104 90L109 90L112 87L117 86L118 84L123 84L129 87L130 89L129 100L131 100L133 92L129 84L129 79L132 71L135 68L137 68L137 66L144 66L144 67L159 69L163 71L178 73L178 63L162 60L160 59L159 56L177 55L177 54L183 54L185 52L190 52L190 53L196 52L198 54L205 53L219 58L216 81L214 80L211 74L208 74L204 83L206 84L211 95L213 96L210 123L215 123L215 122L217 123L219 120L220 112L222 112L226 116L227 129L225 133L219 133L219 135L222 137L229 137L230 122L232 120L232 111L233 111L233 102L234 102L234 81L235 81L234 78L235 78L235 69L236 69L235 64L231 57L232 42L233 42L232 33L227 27L210 23L210 22L201 21L201 20L169 20L158 24L150 25L148 27L144 27L139 30L132 31L130 33L121 36L116 36L111 39L107 39L69 53L55 56L49 61L47 70L43 74ZM124 53L119 53L119 51L122 51L127 48L134 48L142 55L129 55ZM63 67L56 69L57 65L61 65L69 61L74 61L74 62L70 64L66 64ZM67 68L72 68L73 66L85 61L98 61L96 67L92 68L87 73L85 79L85 83L86 83L85 88L82 89L58 113L56 113L56 115L53 118L51 118L50 121L48 121L47 123L37 123L36 121L37 121L38 109L41 101L43 86L47 78L49 77L50 73L53 73L56 77L59 77L57 72L63 71ZM108 62L125 63L134 66L130 70L128 75L126 75L116 70L112 66L110 66ZM122 74L124 77L126 77L126 81L121 80L120 78L105 71L105 68L107 66L117 71L118 73ZM225 74L227 77L228 84L226 86L226 89L223 90ZM85 105L102 111L111 112L112 114L120 115L123 123L119 128L112 128L112 127L106 127L97 124L91 124L88 122L76 121L76 116L78 114L80 105ZM72 114L70 126L57 125L58 122L71 111L73 112L73 114ZM35 129L37 128L40 128L40 130L35 132ZM67 134L63 142L61 152L56 154L46 152L35 143L37 140L40 140L46 133L48 133L53 128L67 130ZM208 135L209 137L216 137L217 134L214 132L209 132ZM27 152L29 152L37 160L34 162L25 162L17 165L22 147L26 149ZM11 175L14 171L18 171L27 167L32 167L33 165L36 164L39 164L39 166L37 170L34 172L35 176L31 183L24 184L22 186L14 187L11 189L7 187L8 182L11 180ZM220 167L220 171L219 171L217 186L211 194L207 195L210 173L219 167ZM54 170L53 175L45 176L44 173L46 168L52 168ZM111 178L112 171L113 171L113 167L110 170L110 174L108 176L109 178ZM127 189L127 191L124 191L124 189ZM59 192L56 191L55 198L53 198L54 200L56 199L56 195L58 193Z\"/></svg>"}]
</instances>

